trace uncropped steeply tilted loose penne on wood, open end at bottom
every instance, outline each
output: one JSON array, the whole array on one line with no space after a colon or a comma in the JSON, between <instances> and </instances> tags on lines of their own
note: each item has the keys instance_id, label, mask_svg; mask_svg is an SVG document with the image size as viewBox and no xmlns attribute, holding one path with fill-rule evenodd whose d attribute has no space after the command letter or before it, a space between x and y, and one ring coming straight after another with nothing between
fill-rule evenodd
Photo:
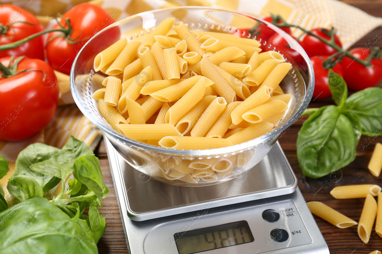
<instances>
[{"instance_id":1,"label":"uncropped steeply tilted loose penne on wood, open end at bottom","mask_svg":"<svg viewBox=\"0 0 382 254\"><path fill-rule=\"evenodd\" d=\"M367 194L357 228L358 236L361 238L363 243L369 242L376 215L377 202L372 195Z\"/></svg>"}]
</instances>

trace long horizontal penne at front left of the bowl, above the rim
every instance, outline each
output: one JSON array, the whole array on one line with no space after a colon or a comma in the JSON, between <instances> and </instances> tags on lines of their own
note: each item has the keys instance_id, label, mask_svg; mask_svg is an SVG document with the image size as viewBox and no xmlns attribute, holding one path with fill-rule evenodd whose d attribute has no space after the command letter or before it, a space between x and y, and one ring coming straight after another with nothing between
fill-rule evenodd
<instances>
[{"instance_id":1,"label":"long horizontal penne at front left of the bowl, above the rim","mask_svg":"<svg viewBox=\"0 0 382 254\"><path fill-rule=\"evenodd\" d=\"M162 139L165 136L181 135L175 126L168 123L162 124L119 124L118 128L127 137L136 140L142 139Z\"/></svg>"}]
</instances>

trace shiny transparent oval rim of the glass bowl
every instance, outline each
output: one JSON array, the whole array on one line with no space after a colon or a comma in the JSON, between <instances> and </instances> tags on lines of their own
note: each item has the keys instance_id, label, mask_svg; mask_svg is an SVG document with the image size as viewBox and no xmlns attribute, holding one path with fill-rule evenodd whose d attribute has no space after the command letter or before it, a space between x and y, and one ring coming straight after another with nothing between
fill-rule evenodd
<instances>
[{"instance_id":1,"label":"shiny transparent oval rim of the glass bowl","mask_svg":"<svg viewBox=\"0 0 382 254\"><path fill-rule=\"evenodd\" d=\"M248 18L251 18L251 19L254 19L254 20L257 20L257 21L261 21L261 22L267 24L267 26L270 26L270 27L274 28L279 34L283 34L285 37L290 37L290 38L288 38L288 40L291 40L291 39L294 40L290 35L288 35L282 29L278 28L277 26L273 25L270 22L264 21L264 20L262 20L260 18L251 16L249 14L241 13L239 11L234 11L234 10L228 10L228 9L225 9L225 8L216 8L216 7L208 7L207 8L206 6L175 6L175 7L160 8L160 9L157 9L157 10L145 11L145 12L141 12L141 13L138 13L138 14L134 14L132 16L126 17L124 19L121 19L120 21L114 22L113 24L110 24L109 26L107 26L104 29L102 29L95 36L90 38L84 44L84 46L79 50L78 54L76 55L76 58L73 61L73 64L72 64L71 70L70 70L70 89L71 89L71 93L73 95L73 99L76 102L77 107L79 108L79 110L81 110L81 112L84 114L84 116L87 119L89 119L95 126L97 126L97 128L102 130L104 133L114 137L115 139L117 139L117 141L124 142L124 144L126 143L126 144L130 144L130 145L134 145L134 146L139 147L141 149L151 150L151 151L158 152L158 153L171 154L173 156L177 156L178 155L178 156L195 156L195 157L198 157L198 156L207 156L207 155L228 154L228 153L237 152L237 151L240 151L240 150L242 152L244 150L251 149L251 147L255 147L255 146L259 145L259 144L264 143L265 141L270 140L272 137L277 136L282 131L284 131L286 128L288 128L293 123L295 123L295 121L299 117L301 117L301 115L304 112L304 110L308 107L308 104L311 101L312 96L307 97L307 95L310 95L310 94L312 95L313 89L314 89L314 72L313 72L312 63L311 63L311 61L309 59L308 54L306 54L306 52L303 50L301 45L299 45L299 43L296 42L296 41L295 41L296 42L295 46L297 46L299 48L299 50L300 50L299 53L301 54L301 56L303 56L304 60L307 62L307 64L308 64L307 72L308 72L308 74L310 76L308 88L306 88L307 84L304 83L306 93L304 93L304 100L301 103L301 106L299 107L299 109L295 113L295 115L293 115L290 118L290 120L287 121L286 123L284 123L283 125L277 126L276 128L272 129L269 133L265 133L264 135L262 135L260 137L257 137L255 139L252 139L252 140L244 142L244 143L240 143L240 144L236 144L236 145L231 145L231 146L228 146L228 147L221 147L221 148L215 148L215 149L203 149L203 150L178 150L178 149L168 149L168 148L163 148L163 147L157 147L157 146L154 146L154 145L149 145L149 144L145 144L145 143L141 143L141 142L135 141L133 139L129 139L128 137L123 136L120 133L117 133L117 131L110 131L109 129L105 129L102 126L99 126L97 124L97 121L95 119L93 119L91 117L91 115L89 115L87 113L86 110L83 109L83 106L81 105L81 102L79 101L79 94L77 92L76 85L75 85L74 66L76 65L76 63L78 61L79 55L82 53L84 48L92 40L94 40L97 36L102 34L102 32L110 29L111 27L119 26L122 23L125 23L125 22L128 22L130 20L139 18L142 15L144 15L145 13L157 13L157 12L161 12L161 11L170 11L171 12L172 10L197 10L197 9L199 9L199 10L225 11L225 12L228 12L228 13L235 13L235 14L238 14L238 15L241 15L241 16L246 16ZM289 41L288 41L288 43L289 43ZM220 157L220 156L217 156L217 158L218 157Z\"/></svg>"}]
</instances>

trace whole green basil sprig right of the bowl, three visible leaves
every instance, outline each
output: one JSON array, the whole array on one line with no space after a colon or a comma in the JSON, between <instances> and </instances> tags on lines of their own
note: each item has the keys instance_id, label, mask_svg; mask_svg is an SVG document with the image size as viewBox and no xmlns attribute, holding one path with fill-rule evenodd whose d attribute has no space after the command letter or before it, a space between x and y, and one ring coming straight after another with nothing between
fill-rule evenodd
<instances>
[{"instance_id":1,"label":"whole green basil sprig right of the bowl, three visible leaves","mask_svg":"<svg viewBox=\"0 0 382 254\"><path fill-rule=\"evenodd\" d=\"M343 78L329 70L329 88L337 105L307 109L298 132L299 165L305 176L318 178L345 167L356 157L364 135L382 134L382 89L366 88L348 97Z\"/></svg>"}]
</instances>

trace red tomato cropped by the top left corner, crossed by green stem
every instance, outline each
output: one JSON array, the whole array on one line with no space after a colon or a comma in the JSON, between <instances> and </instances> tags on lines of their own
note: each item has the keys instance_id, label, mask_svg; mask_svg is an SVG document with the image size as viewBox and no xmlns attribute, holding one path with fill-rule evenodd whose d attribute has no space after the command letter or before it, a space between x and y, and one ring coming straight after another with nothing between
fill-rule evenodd
<instances>
[{"instance_id":1,"label":"red tomato cropped by the top left corner, crossed by green stem","mask_svg":"<svg viewBox=\"0 0 382 254\"><path fill-rule=\"evenodd\" d=\"M0 45L17 42L44 30L40 21L28 11L14 5L0 5ZM11 50L0 51L4 56L27 56L44 60L42 36Z\"/></svg>"}]
</instances>

